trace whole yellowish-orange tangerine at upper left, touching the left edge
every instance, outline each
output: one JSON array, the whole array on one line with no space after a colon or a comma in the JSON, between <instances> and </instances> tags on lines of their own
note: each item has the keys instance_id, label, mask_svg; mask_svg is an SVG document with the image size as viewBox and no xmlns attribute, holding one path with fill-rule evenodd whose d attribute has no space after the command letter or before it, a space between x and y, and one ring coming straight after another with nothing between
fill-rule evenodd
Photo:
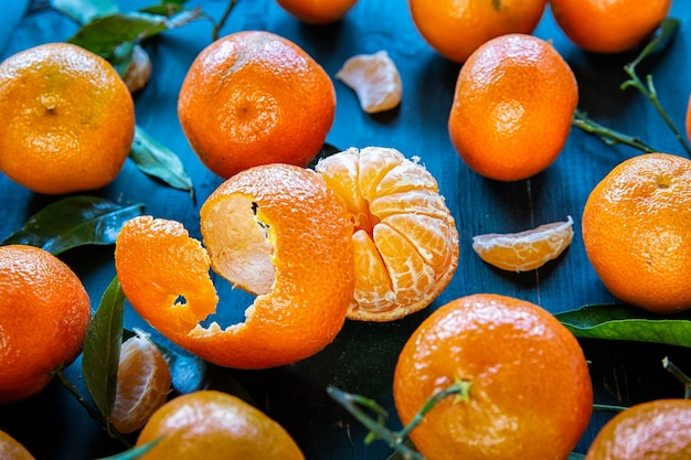
<instances>
[{"instance_id":1,"label":"whole yellowish-orange tangerine at upper left, touching the left edge","mask_svg":"<svg viewBox=\"0 0 691 460\"><path fill-rule=\"evenodd\" d=\"M0 64L0 170L39 193L99 189L135 135L127 86L103 57L49 43Z\"/></svg>"}]
</instances>

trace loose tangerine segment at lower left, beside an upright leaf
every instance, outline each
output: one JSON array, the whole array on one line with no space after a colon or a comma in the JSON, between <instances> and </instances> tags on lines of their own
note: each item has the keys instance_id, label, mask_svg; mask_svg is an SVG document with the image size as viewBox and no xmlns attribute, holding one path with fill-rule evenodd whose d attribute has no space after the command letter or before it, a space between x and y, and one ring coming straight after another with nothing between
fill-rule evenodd
<instances>
[{"instance_id":1,"label":"loose tangerine segment at lower left, beside an upright leaf","mask_svg":"<svg viewBox=\"0 0 691 460\"><path fill-rule=\"evenodd\" d=\"M143 427L151 414L166 403L171 375L160 350L138 332L120 347L117 391L110 421L119 432Z\"/></svg>"}]
</instances>

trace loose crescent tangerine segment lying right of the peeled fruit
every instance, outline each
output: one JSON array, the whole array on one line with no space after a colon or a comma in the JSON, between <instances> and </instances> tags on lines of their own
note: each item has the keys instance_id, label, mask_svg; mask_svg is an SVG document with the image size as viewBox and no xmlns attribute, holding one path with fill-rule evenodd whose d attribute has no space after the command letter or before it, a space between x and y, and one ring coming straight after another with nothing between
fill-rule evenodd
<instances>
[{"instance_id":1,"label":"loose crescent tangerine segment lying right of the peeled fruit","mask_svg":"<svg viewBox=\"0 0 691 460\"><path fill-rule=\"evenodd\" d=\"M472 249L486 263L510 271L529 271L555 259L571 245L573 218L519 233L472 237Z\"/></svg>"}]
</instances>

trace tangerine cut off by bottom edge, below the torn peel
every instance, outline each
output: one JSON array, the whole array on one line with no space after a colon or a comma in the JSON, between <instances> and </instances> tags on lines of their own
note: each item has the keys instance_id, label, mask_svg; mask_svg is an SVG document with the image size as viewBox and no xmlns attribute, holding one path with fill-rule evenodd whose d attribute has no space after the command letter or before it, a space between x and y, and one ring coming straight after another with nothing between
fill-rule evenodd
<instances>
[{"instance_id":1,"label":"tangerine cut off by bottom edge, below the torn peel","mask_svg":"<svg viewBox=\"0 0 691 460\"><path fill-rule=\"evenodd\" d=\"M304 460L290 435L235 396L199 391L178 396L151 416L137 446L157 443L140 460Z\"/></svg>"}]
</instances>

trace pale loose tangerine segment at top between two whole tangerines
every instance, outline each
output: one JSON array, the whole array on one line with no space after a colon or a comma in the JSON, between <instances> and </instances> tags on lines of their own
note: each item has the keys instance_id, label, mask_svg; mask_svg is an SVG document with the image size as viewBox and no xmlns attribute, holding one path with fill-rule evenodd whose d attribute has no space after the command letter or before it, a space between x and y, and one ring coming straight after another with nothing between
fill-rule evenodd
<instances>
[{"instance_id":1,"label":"pale loose tangerine segment at top between two whole tangerines","mask_svg":"<svg viewBox=\"0 0 691 460\"><path fill-rule=\"evenodd\" d=\"M401 104L401 75L385 51L350 57L336 77L355 92L360 107L368 114L390 110Z\"/></svg>"}]
</instances>

